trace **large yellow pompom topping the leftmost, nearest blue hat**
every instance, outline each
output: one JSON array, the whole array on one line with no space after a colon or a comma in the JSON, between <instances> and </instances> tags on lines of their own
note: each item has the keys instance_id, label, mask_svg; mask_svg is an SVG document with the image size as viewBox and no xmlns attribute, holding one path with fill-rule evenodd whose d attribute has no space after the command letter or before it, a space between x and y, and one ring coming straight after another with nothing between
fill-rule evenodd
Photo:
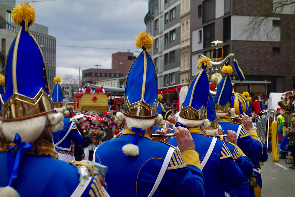
<instances>
[{"instance_id":1,"label":"large yellow pompom topping the leftmost, nearest blue hat","mask_svg":"<svg viewBox=\"0 0 295 197\"><path fill-rule=\"evenodd\" d=\"M34 6L28 5L28 2L20 3L21 6L15 6L11 15L15 25L20 25L24 22L25 30L28 30L28 25L34 25L35 9Z\"/></svg>"}]
</instances>

